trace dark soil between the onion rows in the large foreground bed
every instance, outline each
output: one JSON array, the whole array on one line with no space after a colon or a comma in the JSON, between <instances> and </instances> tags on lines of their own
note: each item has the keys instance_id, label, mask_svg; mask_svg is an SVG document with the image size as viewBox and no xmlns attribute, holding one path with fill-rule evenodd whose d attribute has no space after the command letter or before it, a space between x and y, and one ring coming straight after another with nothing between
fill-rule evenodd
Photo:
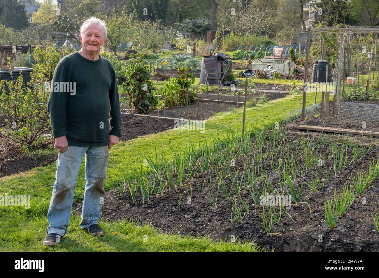
<instances>
[{"instance_id":1,"label":"dark soil between the onion rows in the large foreground bed","mask_svg":"<svg viewBox=\"0 0 379 278\"><path fill-rule=\"evenodd\" d=\"M294 152L300 145L300 136L301 134L298 132L287 132L287 138L283 139L284 145ZM325 137L327 141L330 141L330 135L325 135ZM314 139L317 140L317 138L318 136L311 137L310 142ZM290 143L292 144L291 146ZM278 150L276 149L276 151ZM324 154L327 157L329 151L329 144L319 144L318 154ZM371 146L366 155L358 158L351 166L346 165L346 168L337 173L336 176L334 174L333 158L326 159L325 167L329 172L329 182L321 178L323 176L318 172L323 183L323 187L317 186L319 192L312 194L310 187L304 185L304 196L307 197L305 199L302 197L302 202L307 203L301 203L298 206L291 205L291 208L287 209L287 213L293 220L283 212L279 224L274 223L271 231L276 234L267 235L262 225L262 206L254 204L251 193L246 189L242 189L240 194L249 208L249 214L242 207L243 213L245 213L244 218L232 225L230 222L231 213L233 213L231 199L226 199L223 194L219 193L216 209L209 201L210 194L208 190L213 196L216 196L218 187L215 182L216 186L208 189L211 174L209 171L200 172L199 177L195 175L193 179L186 182L189 185L179 187L177 191L171 188L171 192L165 191L163 196L150 197L150 203L147 203L146 199L143 200L140 192L135 203L133 203L127 188L124 194L117 192L117 189L109 191L106 193L100 216L103 220L132 219L141 224L148 223L166 233L174 231L192 236L208 235L212 239L224 239L227 241L233 235L241 241L254 240L257 245L269 251L373 252L379 249L379 235L371 217L372 213L376 213L379 210L379 177L376 177L368 191L363 193L364 198L359 199L356 196L352 207L342 218L338 219L334 231L330 231L325 221L324 200L329 200L334 196L335 188L339 194L346 181L351 183L351 175L356 175L358 169L367 172L370 160L378 158L377 151L379 151L378 148ZM268 155L273 153L270 143L262 147L262 154L264 155L265 153L268 153ZM348 153L349 158L351 158L351 147L348 147ZM236 157L234 171L238 168L243 169L243 161L246 162L247 158L252 161L253 155L254 151L246 157ZM279 157L283 158L283 154L279 154ZM274 158L276 166L279 157ZM300 165L305 164L304 157L297 157L296 161ZM263 160L264 168L268 170L268 180L274 188L280 189L278 174L271 171L270 163L269 158ZM226 169L226 166L222 167ZM296 182L293 182L298 186L302 182L311 183L313 172L314 169L312 168L303 174L297 173ZM215 181L215 175L211 175L213 176L213 181ZM238 174L238 179L242 180L241 172ZM200 187L205 182L204 191L201 192L195 181L200 184ZM224 181L230 189L232 186L231 180L225 179ZM258 192L262 192L262 186L261 182L258 183ZM192 193L190 193L191 187ZM288 186L285 186L285 189L289 190ZM178 209L179 194L180 196L183 194L180 211ZM188 199L189 194L192 194L191 200ZM238 200L235 191L231 194L235 200ZM81 206L81 203L76 204L74 210L80 213ZM279 211L279 207L276 207L276 210ZM266 211L265 213L267 214L268 212Z\"/></svg>"}]
</instances>

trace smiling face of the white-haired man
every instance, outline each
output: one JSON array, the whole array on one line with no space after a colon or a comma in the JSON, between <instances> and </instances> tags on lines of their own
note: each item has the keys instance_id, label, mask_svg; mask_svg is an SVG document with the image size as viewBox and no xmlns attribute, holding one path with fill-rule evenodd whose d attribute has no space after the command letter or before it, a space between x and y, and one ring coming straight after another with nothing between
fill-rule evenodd
<instances>
[{"instance_id":1,"label":"smiling face of the white-haired man","mask_svg":"<svg viewBox=\"0 0 379 278\"><path fill-rule=\"evenodd\" d=\"M106 43L104 37L105 34L102 26L97 24L89 25L84 33L80 35L82 49L88 54L99 54L100 47Z\"/></svg>"}]
</instances>

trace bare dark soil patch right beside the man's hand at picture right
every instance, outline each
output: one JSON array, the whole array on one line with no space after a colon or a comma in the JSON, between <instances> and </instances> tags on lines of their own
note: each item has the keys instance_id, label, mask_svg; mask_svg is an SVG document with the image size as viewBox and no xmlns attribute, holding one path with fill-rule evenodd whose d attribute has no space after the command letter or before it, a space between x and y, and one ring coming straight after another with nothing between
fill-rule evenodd
<instances>
[{"instance_id":1,"label":"bare dark soil patch right beside the man's hand at picture right","mask_svg":"<svg viewBox=\"0 0 379 278\"><path fill-rule=\"evenodd\" d=\"M147 116L121 114L120 140L130 140L147 134L159 133L174 127L174 123Z\"/></svg>"}]
</instances>

